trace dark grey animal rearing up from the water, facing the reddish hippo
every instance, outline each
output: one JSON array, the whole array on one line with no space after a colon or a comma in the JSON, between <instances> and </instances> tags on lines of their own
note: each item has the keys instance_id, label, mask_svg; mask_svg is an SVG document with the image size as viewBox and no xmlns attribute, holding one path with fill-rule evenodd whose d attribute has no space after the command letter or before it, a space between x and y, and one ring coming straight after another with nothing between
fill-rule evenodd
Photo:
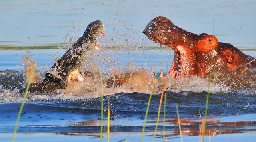
<instances>
[{"instance_id":1,"label":"dark grey animal rearing up from the water, facing the reddish hippo","mask_svg":"<svg viewBox=\"0 0 256 142\"><path fill-rule=\"evenodd\" d=\"M50 71L45 74L42 82L32 83L30 92L38 93L58 93L58 90L65 89L70 81L82 81L79 67L86 58L89 49L98 49L97 36L103 34L104 25L100 20L91 22L82 37L80 37L72 48L56 61ZM24 92L21 89L20 92Z\"/></svg>"}]
</instances>

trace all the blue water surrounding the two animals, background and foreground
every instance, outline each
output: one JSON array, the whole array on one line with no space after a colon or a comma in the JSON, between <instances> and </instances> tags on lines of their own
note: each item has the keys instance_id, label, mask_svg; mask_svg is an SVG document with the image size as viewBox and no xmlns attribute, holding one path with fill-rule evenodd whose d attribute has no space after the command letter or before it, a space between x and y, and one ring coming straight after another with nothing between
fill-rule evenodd
<instances>
[{"instance_id":1,"label":"all the blue water surrounding the two animals, background and foreground","mask_svg":"<svg viewBox=\"0 0 256 142\"><path fill-rule=\"evenodd\" d=\"M176 26L196 34L214 34L220 42L231 43L247 55L256 57L255 7L254 0L1 0L0 71L19 71L10 76L0 76L1 81L7 80L8 84L9 80L16 79L16 73L20 77L18 79L24 79L21 57L27 51L31 52L28 56L38 63L38 71L45 73L52 67L55 57L62 56L66 47L81 37L86 26L94 20L102 20L106 29L106 36L98 37L100 49L95 52L99 58L96 63L102 67L104 74L108 74L109 69L122 69L130 61L134 63L132 68L137 70L143 67L150 71L152 65L156 66L154 72L158 66L164 73L170 69L173 51L159 49L160 45L142 34L146 24L156 16L170 18ZM204 116L208 85L200 84L200 79L195 81L194 84L184 81L181 87L185 91L167 92L168 122L165 125L168 141L180 141L175 103L184 118L181 126L184 140L199 140L201 123L194 122L201 122L201 116ZM211 89L213 93L210 94L208 113L214 117L209 118L212 121L208 125L208 130L212 132L211 140L253 141L256 132L256 91L218 86ZM114 93L114 90L110 99L111 141L124 138L139 141L141 137L144 123L141 118L145 117L150 95L145 92L121 93L125 91L127 89ZM0 141L10 141L22 97L18 89L0 88ZM108 97L104 98L104 140ZM161 94L152 96L144 141L153 138L160 97ZM86 95L30 93L15 141L99 141L100 101L100 98L88 99ZM161 111L157 141L162 141L163 136L164 110Z\"/></svg>"}]
</instances>

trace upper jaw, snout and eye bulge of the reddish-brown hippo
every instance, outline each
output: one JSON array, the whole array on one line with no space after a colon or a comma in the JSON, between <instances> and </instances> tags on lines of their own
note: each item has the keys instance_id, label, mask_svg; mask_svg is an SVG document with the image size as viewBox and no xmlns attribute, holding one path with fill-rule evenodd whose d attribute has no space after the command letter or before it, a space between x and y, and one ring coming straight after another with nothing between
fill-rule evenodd
<instances>
[{"instance_id":1,"label":"upper jaw, snout and eye bulge of the reddish-brown hippo","mask_svg":"<svg viewBox=\"0 0 256 142\"><path fill-rule=\"evenodd\" d=\"M193 48L194 45L200 45L198 50L212 51L218 46L218 40L212 35L197 35L178 26L175 26L168 18L158 16L151 20L143 33L148 36L148 39L175 48L177 45L186 45L186 47Z\"/></svg>"}]
</instances>

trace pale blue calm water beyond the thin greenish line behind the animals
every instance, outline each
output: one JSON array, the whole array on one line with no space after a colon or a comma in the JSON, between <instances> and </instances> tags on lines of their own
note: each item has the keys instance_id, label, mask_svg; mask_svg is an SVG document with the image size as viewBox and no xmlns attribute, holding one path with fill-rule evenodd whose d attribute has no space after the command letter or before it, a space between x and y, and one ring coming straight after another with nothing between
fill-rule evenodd
<instances>
[{"instance_id":1,"label":"pale blue calm water beyond the thin greenish line behind the animals","mask_svg":"<svg viewBox=\"0 0 256 142\"><path fill-rule=\"evenodd\" d=\"M221 42L252 49L256 43L255 7L254 0L1 0L0 45L62 45L63 37L80 37L90 22L102 20L104 44L124 46L128 41L129 47L154 46L142 31L154 17L165 16L190 32L215 34Z\"/></svg>"}]
</instances>

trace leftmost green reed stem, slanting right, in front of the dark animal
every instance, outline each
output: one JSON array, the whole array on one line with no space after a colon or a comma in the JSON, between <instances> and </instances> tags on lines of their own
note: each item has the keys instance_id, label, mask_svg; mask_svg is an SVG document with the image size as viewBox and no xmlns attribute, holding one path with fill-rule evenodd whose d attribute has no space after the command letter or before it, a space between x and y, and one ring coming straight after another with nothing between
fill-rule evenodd
<instances>
[{"instance_id":1,"label":"leftmost green reed stem, slanting right, in front of the dark animal","mask_svg":"<svg viewBox=\"0 0 256 142\"><path fill-rule=\"evenodd\" d=\"M19 124L19 120L20 120L20 115L21 115L21 112L22 112L22 109L23 109L26 97L28 95L28 89L30 87L30 83L31 83L31 81L32 81L32 79L34 77L35 70L36 70L36 64L34 64L32 73L31 73L31 75L29 77L29 80L28 80L28 85L27 85L26 91L24 93L24 97L23 97L23 100L22 100L22 103L21 103L21 106L20 106L20 111L18 113L17 120L16 120L16 125L15 125L14 132L13 132L13 135L12 135L12 142L14 141L15 136L16 136L16 132L17 132L17 128L18 128L18 124Z\"/></svg>"}]
</instances>

